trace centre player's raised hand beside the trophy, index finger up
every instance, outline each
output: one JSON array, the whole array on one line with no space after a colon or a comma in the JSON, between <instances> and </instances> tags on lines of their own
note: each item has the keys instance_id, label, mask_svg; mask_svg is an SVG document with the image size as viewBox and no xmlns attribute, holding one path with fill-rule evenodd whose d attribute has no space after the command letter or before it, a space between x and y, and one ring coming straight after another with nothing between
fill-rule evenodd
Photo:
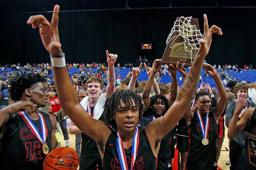
<instances>
[{"instance_id":1,"label":"centre player's raised hand beside the trophy, index finger up","mask_svg":"<svg viewBox=\"0 0 256 170\"><path fill-rule=\"evenodd\" d=\"M212 43L213 33L218 33L219 35L222 35L221 29L216 25L213 25L209 29L207 16L206 14L204 14L204 38L198 40L200 42L200 47L197 52L198 55L205 57L208 54L211 43Z\"/></svg>"}]
</instances>

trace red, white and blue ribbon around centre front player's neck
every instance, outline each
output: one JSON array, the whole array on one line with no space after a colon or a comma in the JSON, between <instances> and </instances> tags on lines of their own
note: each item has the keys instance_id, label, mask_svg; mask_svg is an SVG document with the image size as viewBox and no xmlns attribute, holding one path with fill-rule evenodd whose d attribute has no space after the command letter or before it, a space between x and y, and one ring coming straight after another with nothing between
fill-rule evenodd
<instances>
[{"instance_id":1,"label":"red, white and blue ribbon around centre front player's neck","mask_svg":"<svg viewBox=\"0 0 256 170\"><path fill-rule=\"evenodd\" d=\"M118 152L118 157L119 161L121 164L122 170L131 170L133 169L135 159L138 155L138 147L139 147L139 131L138 127L136 127L136 131L133 135L132 139L132 157L131 157L131 167L128 169L127 161L126 161L126 155L125 155L125 149L123 145L123 140L119 132L117 132L117 152Z\"/></svg>"}]
</instances>

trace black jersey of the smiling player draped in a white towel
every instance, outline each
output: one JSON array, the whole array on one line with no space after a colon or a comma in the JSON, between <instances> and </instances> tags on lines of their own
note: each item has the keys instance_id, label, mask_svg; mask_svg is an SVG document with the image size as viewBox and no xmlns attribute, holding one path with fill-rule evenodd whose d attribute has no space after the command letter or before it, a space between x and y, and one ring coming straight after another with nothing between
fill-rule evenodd
<instances>
[{"instance_id":1,"label":"black jersey of the smiling player draped in a white towel","mask_svg":"<svg viewBox=\"0 0 256 170\"><path fill-rule=\"evenodd\" d=\"M94 106L91 107L92 113L94 110ZM102 113L101 117L99 118L101 121L105 121L105 114ZM81 141L81 157L93 157L93 156L100 156L100 152L95 140L87 136L85 133L81 133L82 141Z\"/></svg>"}]
</instances>

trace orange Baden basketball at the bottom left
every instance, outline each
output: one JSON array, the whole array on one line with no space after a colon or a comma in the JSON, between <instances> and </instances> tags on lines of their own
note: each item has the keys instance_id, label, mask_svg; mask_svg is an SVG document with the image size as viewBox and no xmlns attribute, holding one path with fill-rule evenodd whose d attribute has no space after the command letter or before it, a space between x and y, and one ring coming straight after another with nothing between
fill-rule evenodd
<instances>
[{"instance_id":1,"label":"orange Baden basketball at the bottom left","mask_svg":"<svg viewBox=\"0 0 256 170\"><path fill-rule=\"evenodd\" d=\"M76 151L68 147L53 149L43 161L44 170L65 169L76 170L79 165L79 156Z\"/></svg>"}]
</instances>

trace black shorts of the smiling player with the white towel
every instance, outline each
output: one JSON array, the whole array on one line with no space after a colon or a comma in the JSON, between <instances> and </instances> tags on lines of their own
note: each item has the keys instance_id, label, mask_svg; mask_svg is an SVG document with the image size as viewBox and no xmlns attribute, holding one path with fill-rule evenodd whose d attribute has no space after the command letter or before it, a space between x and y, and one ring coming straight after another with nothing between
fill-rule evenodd
<instances>
[{"instance_id":1,"label":"black shorts of the smiling player with the white towel","mask_svg":"<svg viewBox=\"0 0 256 170\"><path fill-rule=\"evenodd\" d=\"M101 156L94 156L94 157L88 157L88 156L80 156L79 160L79 169L80 170L96 170L96 169L102 170L102 160Z\"/></svg>"}]
</instances>

